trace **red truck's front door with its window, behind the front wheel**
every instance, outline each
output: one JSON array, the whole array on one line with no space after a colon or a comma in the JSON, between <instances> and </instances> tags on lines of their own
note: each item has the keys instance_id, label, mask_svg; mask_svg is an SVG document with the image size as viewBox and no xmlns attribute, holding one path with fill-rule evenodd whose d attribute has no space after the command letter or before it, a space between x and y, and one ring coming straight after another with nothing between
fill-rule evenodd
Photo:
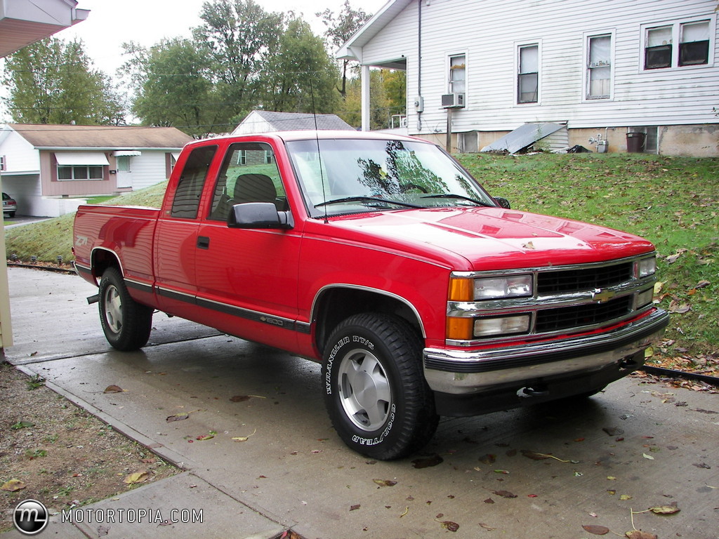
<instances>
[{"instance_id":1,"label":"red truck's front door with its window, behind the front wheel","mask_svg":"<svg viewBox=\"0 0 719 539\"><path fill-rule=\"evenodd\" d=\"M247 202L289 209L270 144L238 142L225 154L198 231L198 306L214 311L213 325L222 331L293 348L301 236L292 229L229 229L232 206Z\"/></svg>"}]
</instances>

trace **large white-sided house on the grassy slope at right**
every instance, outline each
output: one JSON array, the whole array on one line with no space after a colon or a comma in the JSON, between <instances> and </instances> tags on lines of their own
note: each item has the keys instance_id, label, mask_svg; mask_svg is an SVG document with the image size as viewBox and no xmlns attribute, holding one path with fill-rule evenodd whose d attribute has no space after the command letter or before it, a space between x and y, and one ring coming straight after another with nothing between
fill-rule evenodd
<instances>
[{"instance_id":1,"label":"large white-sided house on the grassy slope at right","mask_svg":"<svg viewBox=\"0 0 719 539\"><path fill-rule=\"evenodd\" d=\"M406 70L408 133L477 151L523 124L600 151L719 155L716 0L390 0L337 53ZM450 129L447 129L447 126ZM645 140L646 137L646 140ZM589 139L592 139L590 142ZM638 148L636 147L638 145Z\"/></svg>"}]
</instances>

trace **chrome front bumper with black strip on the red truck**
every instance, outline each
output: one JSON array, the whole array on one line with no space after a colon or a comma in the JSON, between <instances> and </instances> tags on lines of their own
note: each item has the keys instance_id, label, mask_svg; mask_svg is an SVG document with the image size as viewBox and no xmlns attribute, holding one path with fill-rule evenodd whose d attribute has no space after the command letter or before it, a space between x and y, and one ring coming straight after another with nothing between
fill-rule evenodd
<instances>
[{"instance_id":1,"label":"chrome front bumper with black strip on the red truck","mask_svg":"<svg viewBox=\"0 0 719 539\"><path fill-rule=\"evenodd\" d=\"M424 376L432 390L469 395L507 384L586 374L612 364L628 374L638 365L622 367L623 359L661 337L669 323L664 310L608 333L542 341L490 350L427 348Z\"/></svg>"}]
</instances>

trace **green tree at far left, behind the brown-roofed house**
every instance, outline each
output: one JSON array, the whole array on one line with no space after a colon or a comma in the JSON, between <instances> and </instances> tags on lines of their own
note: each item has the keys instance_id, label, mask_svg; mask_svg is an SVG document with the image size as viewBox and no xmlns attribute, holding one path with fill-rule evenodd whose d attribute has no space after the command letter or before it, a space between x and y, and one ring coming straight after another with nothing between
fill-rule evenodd
<instances>
[{"instance_id":1,"label":"green tree at far left, behind the brown-roofed house","mask_svg":"<svg viewBox=\"0 0 719 539\"><path fill-rule=\"evenodd\" d=\"M24 124L118 124L122 100L109 77L90 67L83 42L48 37L7 58L5 98L13 121Z\"/></svg>"}]
</instances>

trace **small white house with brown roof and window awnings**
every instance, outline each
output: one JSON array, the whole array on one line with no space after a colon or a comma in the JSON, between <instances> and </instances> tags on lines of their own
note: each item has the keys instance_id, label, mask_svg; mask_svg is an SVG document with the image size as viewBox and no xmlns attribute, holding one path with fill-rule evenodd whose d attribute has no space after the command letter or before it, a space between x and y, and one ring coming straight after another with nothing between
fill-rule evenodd
<instances>
[{"instance_id":1,"label":"small white house with brown roof and window awnings","mask_svg":"<svg viewBox=\"0 0 719 539\"><path fill-rule=\"evenodd\" d=\"M8 124L0 127L3 190L18 213L63 215L85 197L166 180L191 140L174 127Z\"/></svg>"}]
</instances>

